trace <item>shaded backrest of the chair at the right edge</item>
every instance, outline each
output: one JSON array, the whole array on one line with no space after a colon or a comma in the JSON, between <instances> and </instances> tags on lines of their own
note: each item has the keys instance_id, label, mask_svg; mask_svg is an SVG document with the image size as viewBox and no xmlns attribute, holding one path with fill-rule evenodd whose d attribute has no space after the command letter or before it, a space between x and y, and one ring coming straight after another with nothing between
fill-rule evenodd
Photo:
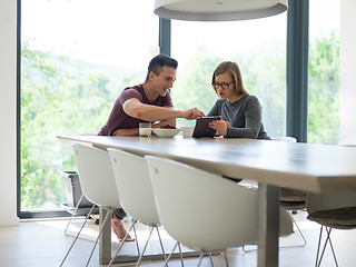
<instances>
[{"instance_id":1,"label":"shaded backrest of the chair at the right edge","mask_svg":"<svg viewBox=\"0 0 356 267\"><path fill-rule=\"evenodd\" d=\"M356 207L356 192L307 194L308 214L346 207Z\"/></svg>"}]
</instances>

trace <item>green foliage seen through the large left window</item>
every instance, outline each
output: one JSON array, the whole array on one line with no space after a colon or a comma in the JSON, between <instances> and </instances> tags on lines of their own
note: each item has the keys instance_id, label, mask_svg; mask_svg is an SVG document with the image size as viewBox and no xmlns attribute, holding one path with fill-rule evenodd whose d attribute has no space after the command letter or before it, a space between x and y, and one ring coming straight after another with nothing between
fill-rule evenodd
<instances>
[{"instance_id":1,"label":"green foliage seen through the large left window","mask_svg":"<svg viewBox=\"0 0 356 267\"><path fill-rule=\"evenodd\" d=\"M52 207L65 201L59 170L75 168L70 148L56 136L97 132L112 100L106 77L27 44L21 52L21 204L26 209Z\"/></svg>"}]
</instances>

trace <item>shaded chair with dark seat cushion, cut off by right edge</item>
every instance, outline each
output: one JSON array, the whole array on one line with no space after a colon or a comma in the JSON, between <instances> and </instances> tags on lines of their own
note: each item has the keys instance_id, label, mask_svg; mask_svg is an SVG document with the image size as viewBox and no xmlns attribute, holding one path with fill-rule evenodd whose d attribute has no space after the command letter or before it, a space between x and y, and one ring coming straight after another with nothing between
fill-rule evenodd
<instances>
[{"instance_id":1,"label":"shaded chair with dark seat cushion, cut off by right edge","mask_svg":"<svg viewBox=\"0 0 356 267\"><path fill-rule=\"evenodd\" d=\"M306 208L309 214L307 218L322 225L315 266L320 266L327 244L330 245L335 265L338 266L330 234L333 228L356 228L356 192L308 194ZM320 254L324 228L327 236Z\"/></svg>"}]
</instances>

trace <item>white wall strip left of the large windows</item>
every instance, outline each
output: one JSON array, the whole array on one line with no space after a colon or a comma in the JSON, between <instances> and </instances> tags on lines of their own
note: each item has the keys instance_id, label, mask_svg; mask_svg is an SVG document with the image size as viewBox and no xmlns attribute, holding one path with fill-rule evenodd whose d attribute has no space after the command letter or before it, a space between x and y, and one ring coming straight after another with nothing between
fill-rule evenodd
<instances>
[{"instance_id":1,"label":"white wall strip left of the large windows","mask_svg":"<svg viewBox=\"0 0 356 267\"><path fill-rule=\"evenodd\" d=\"M16 1L0 1L0 226L16 225Z\"/></svg>"}]
</instances>

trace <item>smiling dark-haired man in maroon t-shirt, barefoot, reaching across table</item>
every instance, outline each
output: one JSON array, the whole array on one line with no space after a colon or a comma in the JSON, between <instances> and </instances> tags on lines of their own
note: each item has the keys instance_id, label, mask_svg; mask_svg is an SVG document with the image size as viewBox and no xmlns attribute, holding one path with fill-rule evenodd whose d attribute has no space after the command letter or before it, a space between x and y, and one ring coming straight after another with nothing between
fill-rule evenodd
<instances>
[{"instance_id":1,"label":"smiling dark-haired man in maroon t-shirt, barefoot, reaching across table","mask_svg":"<svg viewBox=\"0 0 356 267\"><path fill-rule=\"evenodd\" d=\"M165 55L156 56L148 66L145 82L123 89L98 135L138 136L139 122L150 121L154 128L159 128L165 125L176 126L176 118L192 120L205 117L197 108L174 109L169 89L176 80L177 67L177 60ZM122 209L112 212L111 226L119 240L127 234L121 221L125 216ZM135 239L129 237L127 240Z\"/></svg>"}]
</instances>

